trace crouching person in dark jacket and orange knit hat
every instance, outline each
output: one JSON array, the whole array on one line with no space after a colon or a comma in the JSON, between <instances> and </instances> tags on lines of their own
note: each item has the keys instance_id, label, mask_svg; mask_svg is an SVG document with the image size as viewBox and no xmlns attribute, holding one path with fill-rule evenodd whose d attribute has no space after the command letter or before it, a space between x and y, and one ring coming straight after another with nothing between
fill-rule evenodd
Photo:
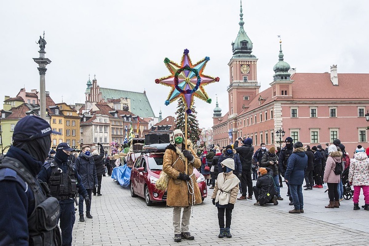
<instances>
[{"instance_id":1,"label":"crouching person in dark jacket and orange knit hat","mask_svg":"<svg viewBox=\"0 0 369 246\"><path fill-rule=\"evenodd\" d=\"M260 167L257 171L259 178L257 179L256 185L253 187L255 194L256 203L255 206L263 206L266 203L273 203L278 205L276 194L276 188L273 180L273 170L269 167ZM267 194L269 199L261 200L261 196ZM268 195L269 194L269 195Z\"/></svg>"}]
</instances>

